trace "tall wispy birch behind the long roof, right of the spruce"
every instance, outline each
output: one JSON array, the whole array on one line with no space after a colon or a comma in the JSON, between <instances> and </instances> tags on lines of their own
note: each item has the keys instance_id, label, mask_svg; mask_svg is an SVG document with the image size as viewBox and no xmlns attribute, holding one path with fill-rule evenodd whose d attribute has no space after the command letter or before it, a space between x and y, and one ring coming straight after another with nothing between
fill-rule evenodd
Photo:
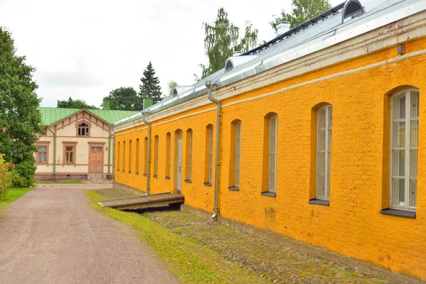
<instances>
[{"instance_id":1,"label":"tall wispy birch behind the long roof, right of the spruce","mask_svg":"<svg viewBox=\"0 0 426 284\"><path fill-rule=\"evenodd\" d=\"M228 20L228 13L221 8L217 11L217 18L212 25L202 24L204 28L204 49L209 65L200 64L202 78L221 70L227 58L234 52L246 52L256 47L258 30L252 30L252 24L246 21L244 38L239 39L239 28ZM197 77L196 77L197 80Z\"/></svg>"}]
</instances>

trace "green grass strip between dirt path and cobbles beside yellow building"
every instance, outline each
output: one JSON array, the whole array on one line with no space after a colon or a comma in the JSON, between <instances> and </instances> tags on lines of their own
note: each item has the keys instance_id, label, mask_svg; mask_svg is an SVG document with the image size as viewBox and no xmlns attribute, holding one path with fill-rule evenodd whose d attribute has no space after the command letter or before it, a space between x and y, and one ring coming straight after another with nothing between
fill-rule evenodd
<instances>
[{"instance_id":1,"label":"green grass strip between dirt path and cobbles beside yellow building","mask_svg":"<svg viewBox=\"0 0 426 284\"><path fill-rule=\"evenodd\" d=\"M182 283L265 283L265 279L226 261L209 247L174 234L146 216L101 207L97 201L105 197L94 190L88 190L87 196L94 201L92 207L139 231L142 241L153 247L153 251L168 263L170 271Z\"/></svg>"}]
</instances>

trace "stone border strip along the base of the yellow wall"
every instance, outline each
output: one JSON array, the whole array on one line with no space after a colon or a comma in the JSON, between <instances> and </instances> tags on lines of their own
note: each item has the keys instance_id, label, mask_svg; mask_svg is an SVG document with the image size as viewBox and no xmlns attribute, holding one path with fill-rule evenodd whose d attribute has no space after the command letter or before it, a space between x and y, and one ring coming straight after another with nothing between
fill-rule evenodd
<instances>
[{"instance_id":1,"label":"stone border strip along the base of the yellow wall","mask_svg":"<svg viewBox=\"0 0 426 284\"><path fill-rule=\"evenodd\" d=\"M187 204L184 204L182 206L181 211L195 214L205 219L212 219L211 216L213 214L212 212L207 212L203 209L198 209ZM342 254L329 251L328 249L321 248L319 246L312 246L302 241L290 239L287 236L283 236L281 234L277 234L265 229L257 228L256 226L253 226L253 225L244 224L242 222L238 222L229 218L219 216L219 224L230 226L231 228L236 229L237 231L243 231L253 236L257 236L259 238L271 241L275 244L280 244L282 246L289 246L293 249L297 249L298 251L302 251L303 253L309 253L312 256L320 256L322 258L327 258L330 261L341 263L344 266L349 266L351 268L354 268L354 270L359 273L365 273L365 274L373 275L380 278L389 278L391 279L391 283L398 283L398 284L399 283L404 283L404 284L424 283L421 280L411 278L408 275L386 270L384 268L375 266L366 261L361 261L359 259L351 258L349 256L343 256Z\"/></svg>"}]
</instances>

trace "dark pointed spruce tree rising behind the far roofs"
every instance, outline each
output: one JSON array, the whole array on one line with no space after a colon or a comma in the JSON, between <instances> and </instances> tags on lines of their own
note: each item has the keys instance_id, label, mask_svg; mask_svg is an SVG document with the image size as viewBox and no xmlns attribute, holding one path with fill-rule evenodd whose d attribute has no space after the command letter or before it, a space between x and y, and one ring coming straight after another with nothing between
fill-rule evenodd
<instances>
[{"instance_id":1,"label":"dark pointed spruce tree rising behind the far roofs","mask_svg":"<svg viewBox=\"0 0 426 284\"><path fill-rule=\"evenodd\" d=\"M142 84L139 85L139 100L136 107L142 109L143 99L153 99L154 104L161 101L161 87L160 80L155 77L155 70L151 61L148 63L146 70L143 71L143 77L141 77Z\"/></svg>"}]
</instances>

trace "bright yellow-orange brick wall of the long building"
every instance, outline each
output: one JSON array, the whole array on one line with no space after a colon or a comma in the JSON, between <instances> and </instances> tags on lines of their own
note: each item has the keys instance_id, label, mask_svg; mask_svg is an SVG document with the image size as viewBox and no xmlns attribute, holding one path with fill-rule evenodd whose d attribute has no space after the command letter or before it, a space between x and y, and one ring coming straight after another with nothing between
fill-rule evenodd
<instances>
[{"instance_id":1,"label":"bright yellow-orange brick wall of the long building","mask_svg":"<svg viewBox=\"0 0 426 284\"><path fill-rule=\"evenodd\" d=\"M425 49L425 38L405 43L406 54ZM220 214L426 280L426 124L423 123L426 121L426 55L366 68L342 77L305 84L271 96L245 101L261 94L338 72L366 67L396 56L396 47L388 48L224 99L219 181ZM389 170L388 165L383 163L389 155L386 150L389 145L388 129L384 128L388 115L387 95L393 94L393 89L405 85L420 89L416 219L380 213L389 203ZM334 116L329 207L308 204L312 197L312 188L315 188L315 184L312 184L315 177L311 174L312 167L315 167L312 163L315 153L312 155L311 150L312 109L324 102L332 104ZM204 147L205 128L207 124L216 127L216 111L195 114L212 107L214 104L209 104L152 122L151 158L154 136L158 135L160 160L158 178L152 178L153 160L151 163L151 193L175 190L175 131L183 131L182 165L185 165L186 131L190 128L193 130L192 183L183 182L184 167L182 195L185 195L186 204L213 211L214 187L203 185ZM276 197L261 195L263 121L264 116L270 112L278 114ZM239 191L228 190L230 131L234 119L242 121ZM216 129L214 135L215 131ZM167 132L172 133L170 180L165 180ZM141 167L144 163L143 138L146 133L146 125L136 126L117 132L115 138L116 143L141 139ZM133 143L133 147L135 145L136 143ZM136 150L133 150L133 153L136 153ZM134 161L133 158L133 163ZM116 171L116 182L145 190L146 177L141 175L141 171L139 173L129 174L127 170L122 173L120 169L119 172Z\"/></svg>"}]
</instances>

